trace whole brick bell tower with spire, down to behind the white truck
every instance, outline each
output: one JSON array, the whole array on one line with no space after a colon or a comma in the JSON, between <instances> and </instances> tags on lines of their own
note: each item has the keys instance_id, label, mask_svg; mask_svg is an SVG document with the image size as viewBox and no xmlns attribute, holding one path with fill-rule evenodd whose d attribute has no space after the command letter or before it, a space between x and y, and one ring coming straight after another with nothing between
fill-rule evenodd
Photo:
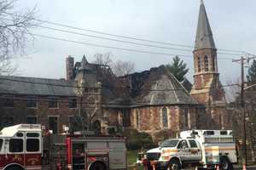
<instances>
[{"instance_id":1,"label":"whole brick bell tower with spire, down to behind the white truck","mask_svg":"<svg viewBox=\"0 0 256 170\"><path fill-rule=\"evenodd\" d=\"M224 88L219 81L217 48L212 37L212 29L207 11L201 0L199 19L195 37L194 84L190 94L202 105L206 105L208 121L216 122L213 127L223 127L222 112L225 110Z\"/></svg>"}]
</instances>

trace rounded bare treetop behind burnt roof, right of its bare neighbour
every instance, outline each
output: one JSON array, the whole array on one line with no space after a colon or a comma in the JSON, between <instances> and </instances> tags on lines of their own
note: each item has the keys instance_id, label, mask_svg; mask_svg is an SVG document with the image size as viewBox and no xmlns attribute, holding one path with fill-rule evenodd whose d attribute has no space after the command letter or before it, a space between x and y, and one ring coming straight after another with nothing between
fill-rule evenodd
<instances>
[{"instance_id":1,"label":"rounded bare treetop behind burnt roof, right of its bare neighbour","mask_svg":"<svg viewBox=\"0 0 256 170\"><path fill-rule=\"evenodd\" d=\"M112 70L115 76L123 77L135 71L135 63L119 60L113 64Z\"/></svg>"}]
</instances>

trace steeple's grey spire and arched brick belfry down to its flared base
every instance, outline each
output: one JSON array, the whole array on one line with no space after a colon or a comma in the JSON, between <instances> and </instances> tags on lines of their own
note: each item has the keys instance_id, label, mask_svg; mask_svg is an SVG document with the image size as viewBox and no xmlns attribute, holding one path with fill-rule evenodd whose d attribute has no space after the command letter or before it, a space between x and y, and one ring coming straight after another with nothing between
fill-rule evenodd
<instances>
[{"instance_id":1,"label":"steeple's grey spire and arched brick belfry down to its flared base","mask_svg":"<svg viewBox=\"0 0 256 170\"><path fill-rule=\"evenodd\" d=\"M212 37L212 30L207 18L207 11L203 0L200 4L199 19L195 38L194 54L194 85L191 94L199 103L207 103L210 100L223 100L224 93L219 88L219 74L217 63L217 49ZM221 93L213 95L216 91ZM201 91L209 94L200 94ZM213 93L214 92L214 93Z\"/></svg>"}]
</instances>

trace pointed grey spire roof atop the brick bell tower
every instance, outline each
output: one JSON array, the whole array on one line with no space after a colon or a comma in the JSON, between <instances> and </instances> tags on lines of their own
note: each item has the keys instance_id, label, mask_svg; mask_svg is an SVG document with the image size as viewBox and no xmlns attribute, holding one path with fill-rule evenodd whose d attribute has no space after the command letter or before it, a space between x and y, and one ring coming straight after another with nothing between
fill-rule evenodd
<instances>
[{"instance_id":1,"label":"pointed grey spire roof atop the brick bell tower","mask_svg":"<svg viewBox=\"0 0 256 170\"><path fill-rule=\"evenodd\" d=\"M207 11L203 0L201 0L197 32L195 37L195 50L205 48L216 49L212 37L211 26L207 17Z\"/></svg>"}]
</instances>

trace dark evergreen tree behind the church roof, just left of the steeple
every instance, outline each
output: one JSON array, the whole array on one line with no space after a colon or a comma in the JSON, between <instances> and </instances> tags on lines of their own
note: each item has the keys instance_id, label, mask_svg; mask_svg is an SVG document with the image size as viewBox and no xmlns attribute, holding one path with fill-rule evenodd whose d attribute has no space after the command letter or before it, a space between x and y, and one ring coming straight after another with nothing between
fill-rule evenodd
<instances>
[{"instance_id":1,"label":"dark evergreen tree behind the church roof, just left of the steeple","mask_svg":"<svg viewBox=\"0 0 256 170\"><path fill-rule=\"evenodd\" d=\"M187 64L183 63L183 59L180 59L178 56L173 58L172 64L168 64L167 68L172 72L173 76L176 77L179 82L183 81L184 76L189 71Z\"/></svg>"}]
</instances>

